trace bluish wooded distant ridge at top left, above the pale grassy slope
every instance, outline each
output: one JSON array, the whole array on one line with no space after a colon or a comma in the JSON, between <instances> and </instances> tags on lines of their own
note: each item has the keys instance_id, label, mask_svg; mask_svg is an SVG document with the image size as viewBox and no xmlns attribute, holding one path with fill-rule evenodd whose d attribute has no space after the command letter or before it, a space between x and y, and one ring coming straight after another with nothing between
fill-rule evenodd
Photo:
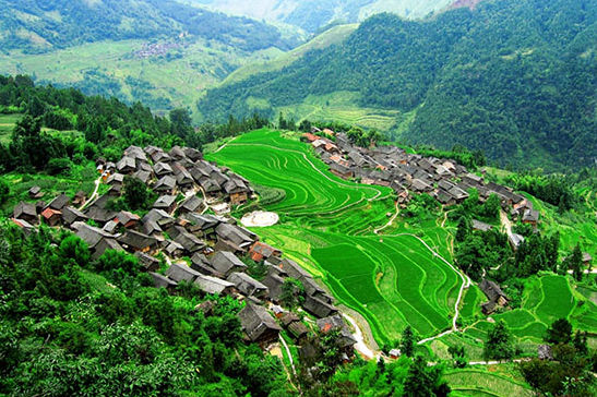
<instances>
[{"instance_id":1,"label":"bluish wooded distant ridge at top left, above the pale grassy slope","mask_svg":"<svg viewBox=\"0 0 597 397\"><path fill-rule=\"evenodd\" d=\"M48 51L99 40L191 35L244 50L289 49L280 32L172 0L0 0L0 50Z\"/></svg>"}]
</instances>

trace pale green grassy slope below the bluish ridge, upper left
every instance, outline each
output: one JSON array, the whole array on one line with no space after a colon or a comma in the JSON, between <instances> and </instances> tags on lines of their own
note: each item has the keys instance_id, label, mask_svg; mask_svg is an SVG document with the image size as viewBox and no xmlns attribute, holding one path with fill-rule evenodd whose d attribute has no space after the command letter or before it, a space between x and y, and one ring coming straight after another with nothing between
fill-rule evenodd
<instances>
[{"instance_id":1,"label":"pale green grassy slope below the bluish ridge, upper left","mask_svg":"<svg viewBox=\"0 0 597 397\"><path fill-rule=\"evenodd\" d=\"M174 107L194 108L199 93L220 82L229 73L227 68L273 59L283 53L271 48L251 55L198 39L188 47L170 51L172 56L180 52L180 58L138 59L133 52L139 51L143 44L143 40L99 41L43 55L0 53L0 73L32 74L37 80L73 85L84 80L86 71L98 69L122 84L122 93L117 96L123 99L143 99L150 105L152 99L166 98ZM133 95L133 87L126 83L128 76L153 86L144 94L147 98ZM155 106L152 109L165 110Z\"/></svg>"}]
</instances>

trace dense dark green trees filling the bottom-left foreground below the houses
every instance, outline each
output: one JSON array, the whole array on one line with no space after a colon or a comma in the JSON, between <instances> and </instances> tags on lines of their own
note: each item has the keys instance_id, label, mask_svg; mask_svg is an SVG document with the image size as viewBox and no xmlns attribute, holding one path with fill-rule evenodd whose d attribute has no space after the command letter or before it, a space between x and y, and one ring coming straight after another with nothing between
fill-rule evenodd
<instances>
[{"instance_id":1,"label":"dense dark green trees filling the bottom-left foreground below the houses","mask_svg":"<svg viewBox=\"0 0 597 397\"><path fill-rule=\"evenodd\" d=\"M45 228L29 238L16 227L0 233L0 393L287 392L278 360L242 342L238 302L208 298L216 312L206 317L194 309L198 290L154 288L132 255L91 261L82 240Z\"/></svg>"}]
</instances>

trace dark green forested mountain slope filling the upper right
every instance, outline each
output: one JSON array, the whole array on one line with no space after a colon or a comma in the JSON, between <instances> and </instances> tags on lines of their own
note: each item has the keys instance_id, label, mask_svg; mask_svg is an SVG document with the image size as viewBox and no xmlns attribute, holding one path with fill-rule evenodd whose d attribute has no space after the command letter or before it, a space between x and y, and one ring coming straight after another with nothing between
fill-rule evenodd
<instances>
[{"instance_id":1,"label":"dark green forested mountain slope filling the upper right","mask_svg":"<svg viewBox=\"0 0 597 397\"><path fill-rule=\"evenodd\" d=\"M409 143L462 144L502 166L589 165L596 10L596 0L500 0L423 22L380 14L342 45L208 92L199 109L207 119L273 115L350 93L355 106L398 110L393 130Z\"/></svg>"}]
</instances>

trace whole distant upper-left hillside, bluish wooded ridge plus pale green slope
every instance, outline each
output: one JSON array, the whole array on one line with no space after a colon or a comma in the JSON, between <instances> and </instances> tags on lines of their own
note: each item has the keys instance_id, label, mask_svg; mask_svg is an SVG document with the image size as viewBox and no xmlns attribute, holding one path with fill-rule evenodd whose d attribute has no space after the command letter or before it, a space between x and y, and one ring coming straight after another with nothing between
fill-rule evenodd
<instances>
[{"instance_id":1,"label":"whole distant upper-left hillside, bluish wooded ridge plus pale green slope","mask_svg":"<svg viewBox=\"0 0 597 397\"><path fill-rule=\"evenodd\" d=\"M156 112L191 107L239 67L276 58L299 37L247 17L175 1L0 0L0 73L141 100Z\"/></svg>"}]
</instances>

